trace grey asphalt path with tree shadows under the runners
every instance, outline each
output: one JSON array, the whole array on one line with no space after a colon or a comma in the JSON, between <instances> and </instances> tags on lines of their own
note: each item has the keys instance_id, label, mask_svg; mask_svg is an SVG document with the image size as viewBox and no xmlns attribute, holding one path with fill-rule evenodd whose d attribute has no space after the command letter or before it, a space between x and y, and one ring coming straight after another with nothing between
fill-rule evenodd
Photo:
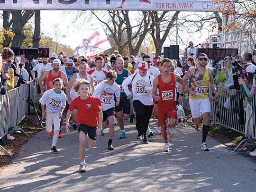
<instances>
[{"instance_id":1,"label":"grey asphalt path with tree shadows under the runners","mask_svg":"<svg viewBox=\"0 0 256 192\"><path fill-rule=\"evenodd\" d=\"M150 121L154 127L155 120ZM255 191L256 158L233 152L214 135L207 139L210 151L201 150L201 132L176 127L171 151L162 152L161 135L142 144L135 124L125 121L126 138L119 139L115 126L113 151L108 134L97 138L96 147L86 149L85 173L78 173L78 135L64 133L50 152L52 137L45 130L21 147L18 157L0 173L0 192L252 192ZM108 132L108 129L105 130Z\"/></svg>"}]
</instances>

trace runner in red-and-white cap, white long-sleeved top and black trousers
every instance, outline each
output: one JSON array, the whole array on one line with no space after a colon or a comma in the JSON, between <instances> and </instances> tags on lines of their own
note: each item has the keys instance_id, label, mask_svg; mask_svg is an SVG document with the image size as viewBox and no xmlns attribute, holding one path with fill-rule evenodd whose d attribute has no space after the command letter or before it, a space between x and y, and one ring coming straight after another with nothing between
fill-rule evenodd
<instances>
[{"instance_id":1,"label":"runner in red-and-white cap, white long-sleeved top and black trousers","mask_svg":"<svg viewBox=\"0 0 256 192\"><path fill-rule=\"evenodd\" d=\"M142 139L148 144L147 127L153 110L152 89L154 77L147 73L148 64L145 61L139 62L138 73L128 76L122 83L125 94L133 98L133 106L137 116L137 139ZM132 84L132 93L128 85Z\"/></svg>"}]
</instances>

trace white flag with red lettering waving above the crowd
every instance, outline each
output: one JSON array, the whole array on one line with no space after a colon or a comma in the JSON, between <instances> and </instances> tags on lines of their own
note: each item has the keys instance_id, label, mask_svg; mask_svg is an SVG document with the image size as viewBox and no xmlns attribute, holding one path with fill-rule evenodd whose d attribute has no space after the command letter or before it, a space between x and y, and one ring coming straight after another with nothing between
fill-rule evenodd
<instances>
[{"instance_id":1,"label":"white flag with red lettering waving above the crowd","mask_svg":"<svg viewBox=\"0 0 256 192\"><path fill-rule=\"evenodd\" d=\"M91 34L88 39L85 39L76 49L76 55L79 56L94 56L105 50L111 49L109 39L100 27Z\"/></svg>"}]
</instances>

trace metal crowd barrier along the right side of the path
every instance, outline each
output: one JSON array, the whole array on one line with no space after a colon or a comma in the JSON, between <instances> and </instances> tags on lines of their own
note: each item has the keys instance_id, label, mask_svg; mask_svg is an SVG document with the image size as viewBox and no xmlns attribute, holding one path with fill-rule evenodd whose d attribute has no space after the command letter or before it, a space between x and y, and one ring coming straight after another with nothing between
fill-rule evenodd
<instances>
[{"instance_id":1,"label":"metal crowd barrier along the right side of the path","mask_svg":"<svg viewBox=\"0 0 256 192\"><path fill-rule=\"evenodd\" d=\"M248 98L241 91L216 86L219 92L218 101L210 99L210 127L226 128L244 135L244 139L234 151L243 144L240 150L249 142L256 143L256 97ZM211 95L211 91L209 93ZM183 107L190 110L189 94L184 92ZM191 117L191 116L190 116ZM189 117L189 118L190 118Z\"/></svg>"}]
</instances>

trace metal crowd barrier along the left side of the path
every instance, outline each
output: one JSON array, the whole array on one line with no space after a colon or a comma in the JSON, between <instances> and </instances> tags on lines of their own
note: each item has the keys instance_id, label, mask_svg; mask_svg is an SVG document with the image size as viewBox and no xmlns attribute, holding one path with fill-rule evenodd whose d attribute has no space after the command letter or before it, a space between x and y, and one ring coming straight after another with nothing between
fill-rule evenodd
<instances>
[{"instance_id":1,"label":"metal crowd barrier along the left side of the path","mask_svg":"<svg viewBox=\"0 0 256 192\"><path fill-rule=\"evenodd\" d=\"M36 121L28 116L29 104L28 89L30 86L30 98L34 101L38 101L37 86L34 81L31 81L29 85L23 84L18 88L6 92L5 95L0 95L0 139L1 143L7 142L7 134L11 134L14 131L20 131L27 137L28 134L18 127L19 123L27 118L34 124ZM11 157L9 152L0 145L0 150Z\"/></svg>"}]
</instances>

